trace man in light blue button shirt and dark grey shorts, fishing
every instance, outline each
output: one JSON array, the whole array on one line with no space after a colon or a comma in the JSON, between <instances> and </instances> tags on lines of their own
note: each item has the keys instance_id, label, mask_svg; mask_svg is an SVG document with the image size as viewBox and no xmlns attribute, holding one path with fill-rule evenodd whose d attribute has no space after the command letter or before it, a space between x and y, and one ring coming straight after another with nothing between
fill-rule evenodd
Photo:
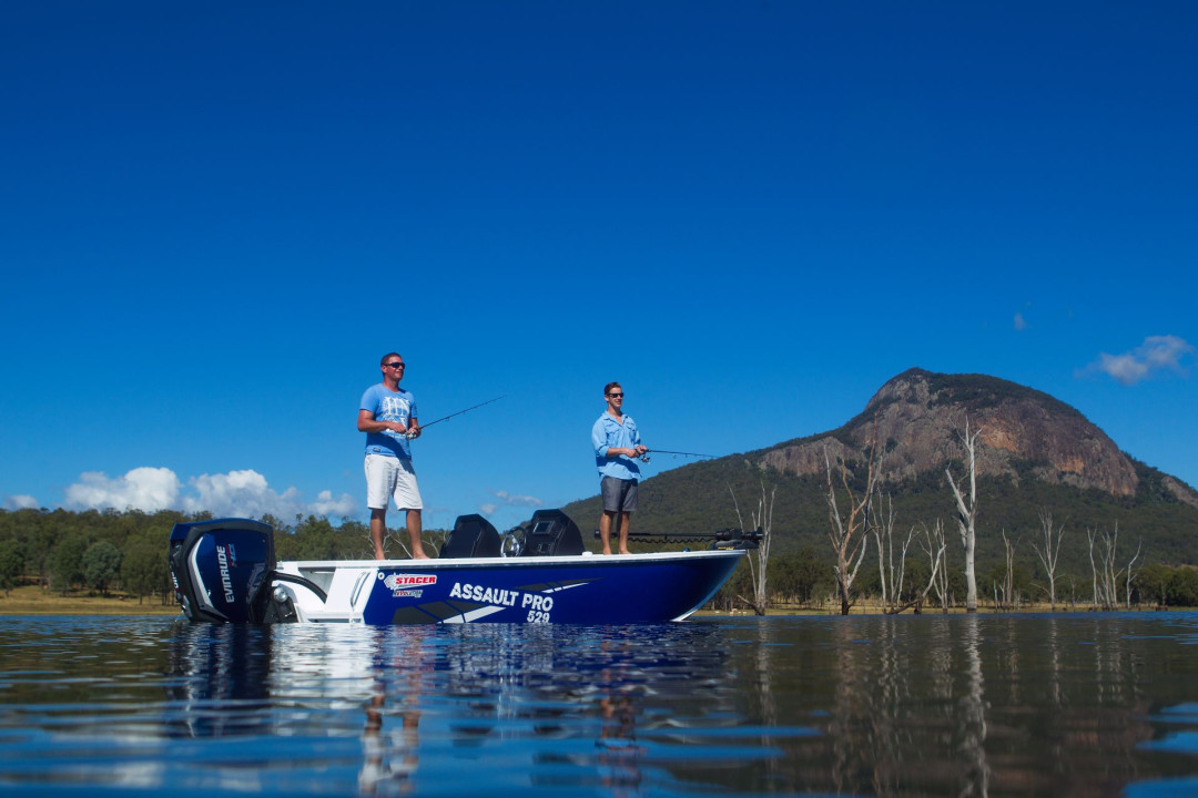
<instances>
[{"instance_id":1,"label":"man in light blue button shirt and dark grey shorts, fishing","mask_svg":"<svg viewBox=\"0 0 1198 798\"><path fill-rule=\"evenodd\" d=\"M636 485L641 479L637 457L643 457L648 447L641 445L641 432L633 416L624 415L624 389L619 383L607 383L603 389L607 409L591 427L591 446L595 450L595 467L603 476L599 491L603 493L603 516L599 517L599 537L603 553L611 554L611 525L619 513L619 553L629 554L629 517L636 511Z\"/></svg>"}]
</instances>

